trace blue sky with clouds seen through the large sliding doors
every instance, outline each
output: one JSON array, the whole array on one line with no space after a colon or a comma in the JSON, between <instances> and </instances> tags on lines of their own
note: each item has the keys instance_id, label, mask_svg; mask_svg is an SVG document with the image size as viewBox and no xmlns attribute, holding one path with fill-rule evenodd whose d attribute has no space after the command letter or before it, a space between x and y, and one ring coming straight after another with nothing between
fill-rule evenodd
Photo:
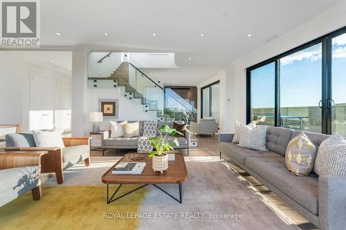
<instances>
[{"instance_id":1,"label":"blue sky with clouds seen through the large sliding doors","mask_svg":"<svg viewBox=\"0 0 346 230\"><path fill-rule=\"evenodd\" d=\"M332 95L346 103L346 34L332 40ZM322 45L280 59L282 107L318 106L322 98ZM275 64L251 71L251 107L274 107Z\"/></svg>"}]
</instances>

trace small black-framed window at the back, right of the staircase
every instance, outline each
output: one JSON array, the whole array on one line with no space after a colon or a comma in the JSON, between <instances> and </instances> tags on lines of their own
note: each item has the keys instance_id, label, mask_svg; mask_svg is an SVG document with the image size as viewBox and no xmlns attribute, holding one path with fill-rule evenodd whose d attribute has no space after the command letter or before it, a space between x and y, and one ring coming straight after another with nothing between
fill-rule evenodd
<instances>
[{"instance_id":1,"label":"small black-framed window at the back, right of the staircase","mask_svg":"<svg viewBox=\"0 0 346 230\"><path fill-rule=\"evenodd\" d=\"M201 88L201 118L212 117L219 123L220 82Z\"/></svg>"}]
</instances>

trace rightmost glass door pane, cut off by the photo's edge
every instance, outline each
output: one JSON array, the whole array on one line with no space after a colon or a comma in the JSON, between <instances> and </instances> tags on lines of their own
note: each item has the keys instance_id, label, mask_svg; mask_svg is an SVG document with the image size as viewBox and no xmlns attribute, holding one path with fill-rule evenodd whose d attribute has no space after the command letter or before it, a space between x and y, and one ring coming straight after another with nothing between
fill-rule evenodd
<instances>
[{"instance_id":1,"label":"rightmost glass door pane, cut off by the photo's edge","mask_svg":"<svg viewBox=\"0 0 346 230\"><path fill-rule=\"evenodd\" d=\"M331 39L331 133L346 136L346 34Z\"/></svg>"}]
</instances>

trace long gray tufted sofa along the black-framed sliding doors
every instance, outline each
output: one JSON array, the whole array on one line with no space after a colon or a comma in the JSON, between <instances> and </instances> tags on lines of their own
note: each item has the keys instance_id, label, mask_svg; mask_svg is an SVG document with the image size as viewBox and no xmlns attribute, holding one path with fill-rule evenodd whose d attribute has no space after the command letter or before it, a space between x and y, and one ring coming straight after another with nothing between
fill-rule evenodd
<instances>
[{"instance_id":1,"label":"long gray tufted sofa along the black-framed sliding doors","mask_svg":"<svg viewBox=\"0 0 346 230\"><path fill-rule=\"evenodd\" d=\"M254 151L232 143L233 133L220 133L221 154L250 173L293 209L322 230L346 229L346 176L296 176L286 169L289 141L300 131L268 126L266 148ZM304 132L318 146L329 135Z\"/></svg>"}]
</instances>

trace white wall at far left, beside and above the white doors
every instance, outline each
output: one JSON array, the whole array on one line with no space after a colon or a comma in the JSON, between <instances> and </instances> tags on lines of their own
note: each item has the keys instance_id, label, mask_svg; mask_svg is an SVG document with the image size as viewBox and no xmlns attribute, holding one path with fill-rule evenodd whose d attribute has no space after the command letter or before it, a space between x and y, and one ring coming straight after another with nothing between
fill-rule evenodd
<instances>
[{"instance_id":1,"label":"white wall at far left, beside and above the white doors","mask_svg":"<svg viewBox=\"0 0 346 230\"><path fill-rule=\"evenodd\" d=\"M29 128L30 73L71 83L71 77L49 68L35 66L15 56L11 51L0 52L0 124L22 124ZM59 97L59 90L57 89ZM59 109L59 108L57 108ZM66 109L66 108L65 108Z\"/></svg>"}]
</instances>

